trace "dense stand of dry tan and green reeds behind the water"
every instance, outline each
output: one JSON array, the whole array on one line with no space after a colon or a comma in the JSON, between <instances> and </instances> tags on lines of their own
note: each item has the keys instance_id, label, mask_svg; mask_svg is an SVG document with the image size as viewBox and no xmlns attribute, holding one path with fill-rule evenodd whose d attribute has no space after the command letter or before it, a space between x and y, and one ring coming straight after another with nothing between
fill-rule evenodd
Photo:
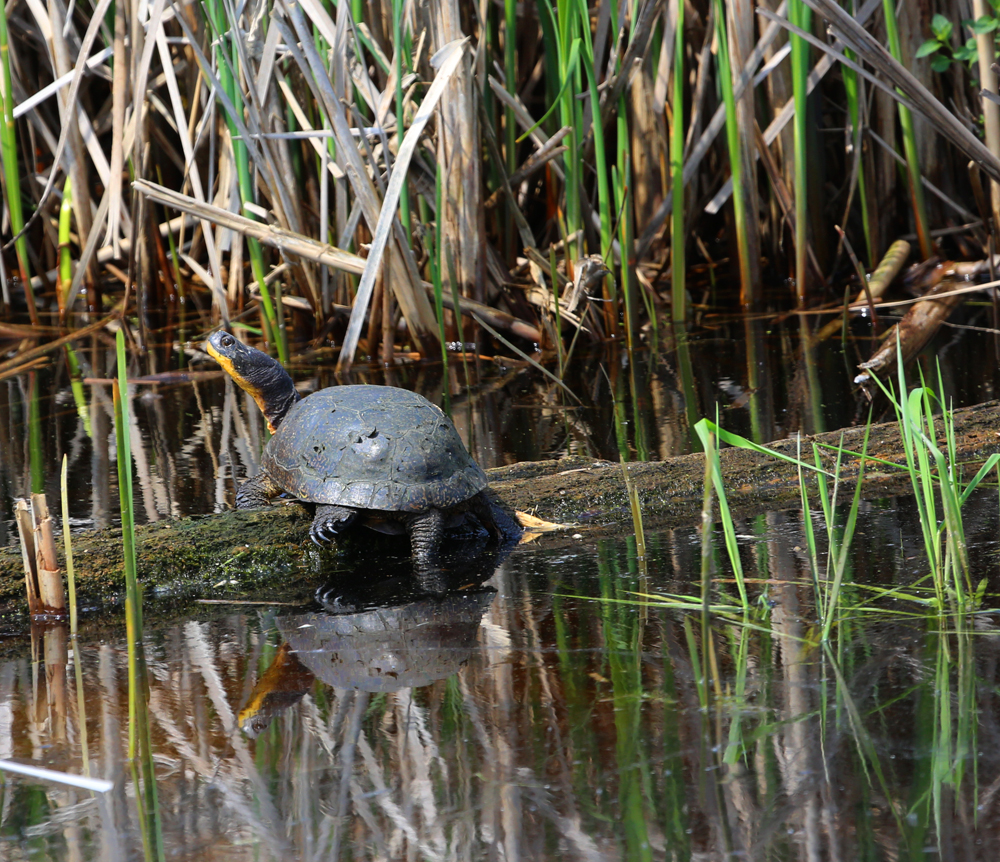
<instances>
[{"instance_id":1,"label":"dense stand of dry tan and green reeds behind the water","mask_svg":"<svg viewBox=\"0 0 1000 862\"><path fill-rule=\"evenodd\" d=\"M793 307L901 234L983 257L996 11L847 5L14 2L0 337L111 315L139 346L221 323L342 370L484 345L561 370L733 305L717 276Z\"/></svg>"}]
</instances>

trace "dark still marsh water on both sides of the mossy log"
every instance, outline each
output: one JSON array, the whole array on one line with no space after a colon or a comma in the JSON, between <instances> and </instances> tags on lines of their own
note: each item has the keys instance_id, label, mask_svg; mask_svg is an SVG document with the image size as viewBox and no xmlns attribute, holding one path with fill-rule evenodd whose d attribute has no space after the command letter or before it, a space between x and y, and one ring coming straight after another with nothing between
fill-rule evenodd
<instances>
[{"instance_id":1,"label":"dark still marsh water on both sides of the mossy log","mask_svg":"<svg viewBox=\"0 0 1000 862\"><path fill-rule=\"evenodd\" d=\"M805 351L798 325L741 321L682 351L578 360L566 380L579 403L524 367L455 363L447 387L439 368L359 380L438 402L447 388L484 466L662 458L692 446L692 396L698 416L718 408L725 427L768 439L864 417L853 355ZM924 368L936 379L939 360L956 406L985 401L993 350L948 336ZM61 363L0 381L0 541L14 497L59 499L64 453L74 529L117 522L113 355L79 351L79 400ZM264 440L253 402L194 350L151 350L129 376L140 522L231 506ZM295 376L304 391L334 383L322 364ZM151 773L129 758L124 624L72 643L7 620L0 758L110 784L4 773L0 859L995 859L995 488L965 514L979 612L961 625L926 612L914 502L868 500L827 646L798 511L739 525L749 618L727 611L721 539L702 617L694 525L650 532L644 558L632 535L563 531L444 595L402 575L379 587L377 558L317 557L280 604L266 589L181 617L153 602ZM907 589L881 599L892 586Z\"/></svg>"}]
</instances>

